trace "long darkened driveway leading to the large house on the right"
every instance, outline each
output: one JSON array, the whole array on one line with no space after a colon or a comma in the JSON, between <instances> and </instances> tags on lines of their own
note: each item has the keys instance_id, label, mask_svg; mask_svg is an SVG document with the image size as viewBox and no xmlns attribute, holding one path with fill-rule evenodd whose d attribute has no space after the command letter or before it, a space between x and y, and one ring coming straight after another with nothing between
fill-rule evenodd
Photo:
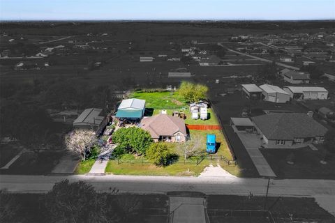
<instances>
[{"instance_id":1,"label":"long darkened driveway leading to the large house on the right","mask_svg":"<svg viewBox=\"0 0 335 223\"><path fill-rule=\"evenodd\" d=\"M260 176L276 177L276 174L274 174L267 160L265 160L265 157L258 149L260 148L260 138L258 135L248 132L237 132L237 135L250 155L251 160L253 160L258 174L260 174Z\"/></svg>"}]
</instances>

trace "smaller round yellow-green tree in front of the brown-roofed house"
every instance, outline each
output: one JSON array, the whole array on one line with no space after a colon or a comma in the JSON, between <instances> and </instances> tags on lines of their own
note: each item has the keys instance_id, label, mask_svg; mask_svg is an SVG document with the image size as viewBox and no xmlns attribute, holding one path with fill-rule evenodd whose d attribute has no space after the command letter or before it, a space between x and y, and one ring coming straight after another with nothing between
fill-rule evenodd
<instances>
[{"instance_id":1,"label":"smaller round yellow-green tree in front of the brown-roofed house","mask_svg":"<svg viewBox=\"0 0 335 223\"><path fill-rule=\"evenodd\" d=\"M172 157L172 153L168 144L165 142L158 142L151 144L147 151L145 152L145 157L148 160L151 160L157 166L167 166L170 162L170 158Z\"/></svg>"}]
</instances>

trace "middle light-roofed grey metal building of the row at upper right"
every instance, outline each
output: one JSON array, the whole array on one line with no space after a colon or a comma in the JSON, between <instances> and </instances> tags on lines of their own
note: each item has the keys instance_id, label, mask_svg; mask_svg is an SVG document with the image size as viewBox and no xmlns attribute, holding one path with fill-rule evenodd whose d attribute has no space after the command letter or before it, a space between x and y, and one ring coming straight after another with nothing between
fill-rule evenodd
<instances>
[{"instance_id":1,"label":"middle light-roofed grey metal building of the row at upper right","mask_svg":"<svg viewBox=\"0 0 335 223\"><path fill-rule=\"evenodd\" d=\"M263 84L260 86L264 100L268 102L285 103L290 100L290 94L278 86Z\"/></svg>"}]
</instances>

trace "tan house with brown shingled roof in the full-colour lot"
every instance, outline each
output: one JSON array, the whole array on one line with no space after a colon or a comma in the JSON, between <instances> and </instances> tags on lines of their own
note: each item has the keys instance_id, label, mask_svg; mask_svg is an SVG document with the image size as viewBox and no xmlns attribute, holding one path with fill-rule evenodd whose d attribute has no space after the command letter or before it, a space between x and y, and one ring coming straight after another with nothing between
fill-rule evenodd
<instances>
[{"instance_id":1,"label":"tan house with brown shingled roof in the full-colour lot","mask_svg":"<svg viewBox=\"0 0 335 223\"><path fill-rule=\"evenodd\" d=\"M184 142L187 138L186 125L182 118L158 114L143 118L141 128L150 132L154 141Z\"/></svg>"}]
</instances>

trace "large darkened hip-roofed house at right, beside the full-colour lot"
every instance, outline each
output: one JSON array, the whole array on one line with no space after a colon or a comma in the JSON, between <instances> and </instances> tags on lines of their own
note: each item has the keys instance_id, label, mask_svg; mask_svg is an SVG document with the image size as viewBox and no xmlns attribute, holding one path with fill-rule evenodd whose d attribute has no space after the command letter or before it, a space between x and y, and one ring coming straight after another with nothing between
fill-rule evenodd
<instances>
[{"instance_id":1,"label":"large darkened hip-roofed house at right, beside the full-colour lot","mask_svg":"<svg viewBox=\"0 0 335 223\"><path fill-rule=\"evenodd\" d=\"M268 148L290 148L322 142L327 128L304 113L270 113L252 117L262 144Z\"/></svg>"}]
</instances>

